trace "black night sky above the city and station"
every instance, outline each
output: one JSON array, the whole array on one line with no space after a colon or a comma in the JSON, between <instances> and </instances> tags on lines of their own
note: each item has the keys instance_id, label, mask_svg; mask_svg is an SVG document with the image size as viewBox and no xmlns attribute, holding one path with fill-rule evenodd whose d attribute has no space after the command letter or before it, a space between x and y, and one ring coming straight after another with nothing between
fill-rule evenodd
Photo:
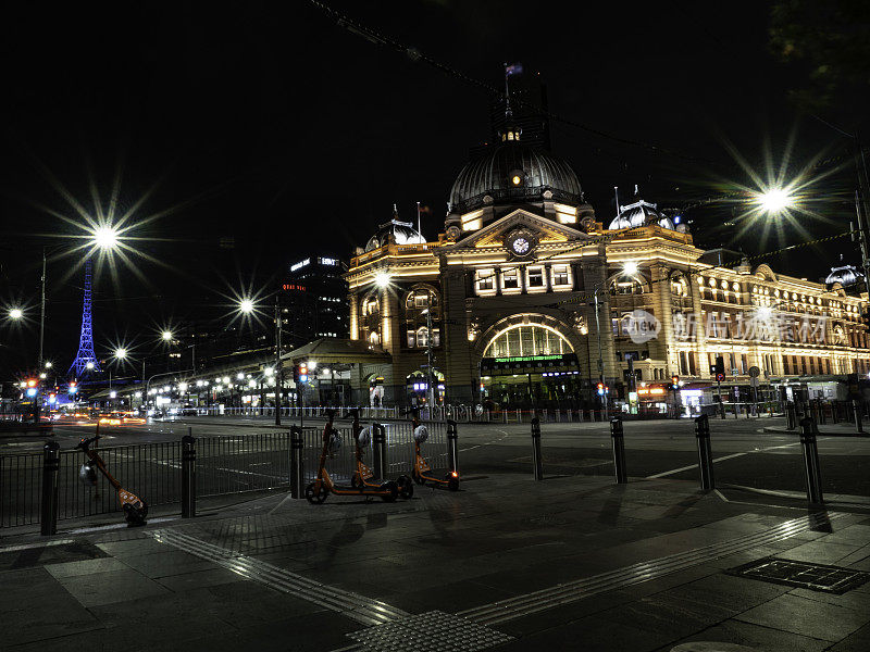
<instances>
[{"instance_id":1,"label":"black night sky above the city and station","mask_svg":"<svg viewBox=\"0 0 870 652\"><path fill-rule=\"evenodd\" d=\"M775 166L790 155L794 174L844 153L835 130L787 100L801 72L772 55L767 2L330 2L487 85L502 83L502 62L540 73L551 111L567 118L551 124L554 150L606 223L613 186L623 203L639 184L648 201L682 208L749 184L726 143L762 176L766 148ZM227 296L266 286L313 249L347 258L394 202L408 220L417 201L430 206L423 230L434 239L469 148L489 134L484 90L307 0L16 3L3 24L0 300L30 317L17 329L2 323L4 380L36 360L44 246L60 247L48 269L47 358L65 368L75 354L82 256L69 250L85 231L58 216L84 224L64 193L95 215L92 187L105 213L120 178L115 214L135 208L124 235L145 255L130 254L136 269L119 265L115 280L99 269L95 341L98 355L122 340L148 350L163 324L222 318ZM866 130L868 99L819 117ZM812 186L825 220L800 216L806 234L847 228L853 175L845 167ZM732 208L721 203L686 215L703 247L759 253L806 238L786 229L761 242L751 229L732 241ZM857 262L847 239L767 262L816 278L841 251Z\"/></svg>"}]
</instances>

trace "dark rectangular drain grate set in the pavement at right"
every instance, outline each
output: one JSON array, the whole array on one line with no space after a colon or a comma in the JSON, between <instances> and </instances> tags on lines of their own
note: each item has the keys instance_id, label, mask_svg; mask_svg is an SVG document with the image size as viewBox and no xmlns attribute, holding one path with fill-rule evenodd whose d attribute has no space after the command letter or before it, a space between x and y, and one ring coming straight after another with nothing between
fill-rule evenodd
<instances>
[{"instance_id":1,"label":"dark rectangular drain grate set in the pavement at right","mask_svg":"<svg viewBox=\"0 0 870 652\"><path fill-rule=\"evenodd\" d=\"M750 577L762 581L809 589L810 591L836 594L850 591L870 579L870 573L861 570L778 557L757 560L736 568L730 568L725 573L738 577Z\"/></svg>"}]
</instances>

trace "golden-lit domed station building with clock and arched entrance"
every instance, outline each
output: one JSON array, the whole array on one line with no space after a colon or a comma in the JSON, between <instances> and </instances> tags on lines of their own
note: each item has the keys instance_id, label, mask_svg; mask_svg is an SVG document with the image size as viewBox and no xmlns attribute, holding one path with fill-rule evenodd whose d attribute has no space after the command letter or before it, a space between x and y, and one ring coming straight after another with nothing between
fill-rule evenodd
<instances>
[{"instance_id":1,"label":"golden-lit domed station building with clock and arched entrance","mask_svg":"<svg viewBox=\"0 0 870 652\"><path fill-rule=\"evenodd\" d=\"M350 338L381 355L351 379L360 402L423 401L431 372L450 403L593 408L602 379L613 402L663 409L676 375L693 405L714 400L718 356L725 401L750 385L842 399L870 371L853 268L813 283L720 264L639 196L601 221L568 162L519 128L461 170L448 206L436 239L394 216L350 260Z\"/></svg>"}]
</instances>

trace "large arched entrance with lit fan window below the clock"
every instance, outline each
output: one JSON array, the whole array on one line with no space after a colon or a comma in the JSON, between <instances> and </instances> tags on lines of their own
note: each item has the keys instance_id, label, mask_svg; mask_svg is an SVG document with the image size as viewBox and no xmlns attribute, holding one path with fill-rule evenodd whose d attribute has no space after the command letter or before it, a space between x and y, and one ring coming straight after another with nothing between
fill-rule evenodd
<instances>
[{"instance_id":1,"label":"large arched entrance with lit fan window below the clock","mask_svg":"<svg viewBox=\"0 0 870 652\"><path fill-rule=\"evenodd\" d=\"M559 326L544 315L524 315L490 329L481 359L481 400L487 408L580 405L580 365Z\"/></svg>"}]
</instances>

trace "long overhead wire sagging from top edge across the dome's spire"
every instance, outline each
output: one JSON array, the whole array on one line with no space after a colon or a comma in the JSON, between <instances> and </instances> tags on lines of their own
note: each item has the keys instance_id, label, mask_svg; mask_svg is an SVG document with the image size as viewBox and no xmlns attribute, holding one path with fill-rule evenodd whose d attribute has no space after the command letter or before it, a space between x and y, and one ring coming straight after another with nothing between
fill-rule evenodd
<instances>
[{"instance_id":1,"label":"long overhead wire sagging from top edge across the dome's spire","mask_svg":"<svg viewBox=\"0 0 870 652\"><path fill-rule=\"evenodd\" d=\"M364 38L365 40L368 40L368 41L370 41L372 43L382 45L382 46L389 46L390 48L397 50L398 52L401 52L405 55L407 55L409 59L411 59L411 61L415 61L415 62L417 61L423 61L423 62L427 63L428 65L431 65L432 67L440 71L442 73L444 73L444 74L446 74L448 76L451 76L451 77L456 77L457 79L460 79L461 82L463 82L465 84L474 86L475 88L485 90L489 95L496 95L497 96L497 95L501 95L504 92L501 89L496 88L492 84L487 84L486 82L483 82L481 79L476 79L476 78L474 78L474 77L472 77L472 76L470 76L470 75L468 75L468 74L465 74L465 73L463 73L461 71L458 71L457 68L455 68L455 67L452 67L452 66L450 66L450 65L448 65L446 63L442 63L440 61L430 57L428 54L425 54L424 52L421 52L419 49L417 49L417 48L414 48L412 46L407 46L407 45L396 40L395 38L393 38L390 36L386 36L384 34L377 32L376 29L374 29L372 27L369 27L368 25L363 25L362 23L360 23L359 21L357 21L355 18L351 18L347 14L341 13L336 9L333 9L328 4L325 4L324 2L321 2L321 0L308 0L308 1L309 1L310 4L312 4L316 9L321 10L322 12L326 13L328 16L334 18L339 27L343 27L344 29L350 32L351 34L356 34L357 36L361 36L362 38ZM591 127L588 125L580 123L580 122L577 122L575 120L572 120L570 117L566 117L564 115L560 115L558 113L552 113L551 111L544 111L544 110L539 109L538 106L534 105L533 103L523 100L520 97L511 98L511 101L515 102L518 105L523 106L525 109L531 109L532 111L534 111L536 114L538 114L540 116L547 117L547 118L549 118L551 121L555 121L555 122L560 122L562 124L566 124L566 125L569 125L569 126L572 126L572 127L575 127L577 129L581 129L581 130L586 131L588 134L593 134L594 136L598 136L600 138L612 140L614 142L620 142L622 145L630 145L630 146L633 146L633 147L639 147L639 148L649 150L649 151L651 151L654 153L666 154L666 155L669 155L669 156L672 156L672 158L675 158L675 159L681 159L683 161L692 161L694 163L704 162L704 163L714 164L713 161L710 161L708 159L701 159L699 156L694 156L694 155L691 155L691 154L685 154L683 152L678 152L678 151L675 151L673 149L664 148L664 147L661 147L659 145L655 145L655 143L651 143L651 142L645 142L645 141L642 141L642 140L634 140L634 139L631 139L631 138L623 138L622 136L617 136L614 134L610 134L608 131L604 131L601 129L597 129L595 127Z\"/></svg>"}]
</instances>

